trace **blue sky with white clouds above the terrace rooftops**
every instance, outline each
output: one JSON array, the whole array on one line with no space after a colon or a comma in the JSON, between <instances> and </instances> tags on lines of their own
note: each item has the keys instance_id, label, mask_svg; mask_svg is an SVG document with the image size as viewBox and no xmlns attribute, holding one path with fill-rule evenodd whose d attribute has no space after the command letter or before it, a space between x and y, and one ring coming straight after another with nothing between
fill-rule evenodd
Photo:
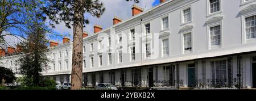
<instances>
[{"instance_id":1,"label":"blue sky with white clouds above the terrace rooftops","mask_svg":"<svg viewBox=\"0 0 256 101\"><path fill-rule=\"evenodd\" d=\"M134 5L134 2L126 2L125 0L100 0L104 3L104 7L106 11L101 16L101 18L95 18L90 14L85 14L85 18L90 20L89 24L86 24L84 31L89 32L89 35L93 34L93 26L95 24L100 25L103 29L109 28L113 26L113 17L118 16L123 21L131 18L131 7ZM139 7L142 7L144 10L151 9L152 7L159 4L159 0L140 0L139 3L136 3ZM48 23L47 20L46 23ZM65 27L64 23L56 24L56 28L52 28L54 34L48 36L49 40L57 41L59 44L62 43L63 36L68 36L71 40L73 40L73 29L69 29ZM56 36L58 35L58 36ZM60 35L60 36L59 36ZM11 46L15 47L15 44L19 43L18 39L11 36L5 36L7 43Z\"/></svg>"}]
</instances>

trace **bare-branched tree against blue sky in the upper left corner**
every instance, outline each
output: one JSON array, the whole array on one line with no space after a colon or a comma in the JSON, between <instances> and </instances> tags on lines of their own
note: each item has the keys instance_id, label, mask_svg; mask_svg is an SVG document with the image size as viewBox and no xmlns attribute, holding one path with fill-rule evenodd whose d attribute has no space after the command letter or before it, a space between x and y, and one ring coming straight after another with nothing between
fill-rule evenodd
<instances>
[{"instance_id":1,"label":"bare-branched tree against blue sky in the upper left corner","mask_svg":"<svg viewBox=\"0 0 256 101\"><path fill-rule=\"evenodd\" d=\"M34 3L31 3L34 2ZM14 36L19 41L26 39L27 30L31 27L31 11L40 7L40 0L1 0L0 1L0 43L9 45L4 36ZM42 14L41 12L38 14ZM38 16L44 17L44 16ZM45 19L45 18L42 18ZM7 32L7 33L3 33Z\"/></svg>"}]
</instances>

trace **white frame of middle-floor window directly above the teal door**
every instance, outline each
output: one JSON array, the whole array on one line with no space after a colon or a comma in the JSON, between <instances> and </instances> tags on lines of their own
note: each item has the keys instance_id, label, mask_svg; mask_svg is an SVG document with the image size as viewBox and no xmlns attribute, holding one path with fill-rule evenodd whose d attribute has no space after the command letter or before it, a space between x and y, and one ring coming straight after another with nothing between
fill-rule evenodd
<instances>
[{"instance_id":1,"label":"white frame of middle-floor window directly above the teal door","mask_svg":"<svg viewBox=\"0 0 256 101\"><path fill-rule=\"evenodd\" d=\"M187 50L185 51L184 49L184 35L187 33L191 33L191 50ZM187 53L192 53L193 52L193 30L188 30L188 31L184 31L181 33L181 50L182 50L182 54L187 54Z\"/></svg>"}]
</instances>

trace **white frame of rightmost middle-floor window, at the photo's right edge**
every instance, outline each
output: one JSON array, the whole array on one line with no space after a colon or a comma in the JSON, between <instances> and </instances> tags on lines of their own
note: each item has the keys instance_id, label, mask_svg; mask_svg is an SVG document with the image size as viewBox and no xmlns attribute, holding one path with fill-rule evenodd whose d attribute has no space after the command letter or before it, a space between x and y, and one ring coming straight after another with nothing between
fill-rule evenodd
<instances>
[{"instance_id":1,"label":"white frame of rightmost middle-floor window, at the photo's right edge","mask_svg":"<svg viewBox=\"0 0 256 101\"><path fill-rule=\"evenodd\" d=\"M246 22L245 18L256 15L256 12L246 14L246 15L241 15L241 20L242 20L242 44L247 44L247 43L254 43L256 42L256 39L246 39Z\"/></svg>"}]
</instances>

